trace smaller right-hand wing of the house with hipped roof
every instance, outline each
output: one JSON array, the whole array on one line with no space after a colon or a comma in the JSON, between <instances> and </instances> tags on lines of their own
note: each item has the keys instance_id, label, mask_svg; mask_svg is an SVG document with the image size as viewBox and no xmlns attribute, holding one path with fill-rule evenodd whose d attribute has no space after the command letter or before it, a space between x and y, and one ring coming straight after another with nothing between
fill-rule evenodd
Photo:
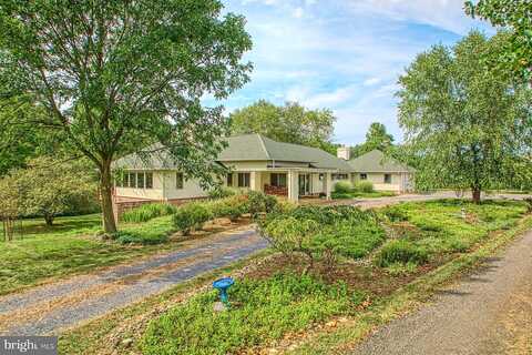
<instances>
[{"instance_id":1,"label":"smaller right-hand wing of the house with hipped roof","mask_svg":"<svg viewBox=\"0 0 532 355\"><path fill-rule=\"evenodd\" d=\"M340 152L338 152L340 156ZM341 152L341 158L346 159ZM356 159L349 160L351 181L370 181L376 191L392 191L405 193L413 190L415 170L393 158L386 156L381 151L374 150Z\"/></svg>"}]
</instances>

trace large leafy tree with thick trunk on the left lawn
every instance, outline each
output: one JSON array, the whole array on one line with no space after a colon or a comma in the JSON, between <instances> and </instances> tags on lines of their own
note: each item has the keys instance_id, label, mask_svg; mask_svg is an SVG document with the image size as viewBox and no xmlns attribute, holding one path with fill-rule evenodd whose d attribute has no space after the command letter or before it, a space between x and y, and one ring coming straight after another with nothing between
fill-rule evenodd
<instances>
[{"instance_id":1,"label":"large leafy tree with thick trunk on the left lawn","mask_svg":"<svg viewBox=\"0 0 532 355\"><path fill-rule=\"evenodd\" d=\"M248 81L244 18L221 16L218 0L6 0L0 6L2 97L25 94L63 132L68 151L100 172L105 232L114 159L160 142L188 178L214 184L228 123L222 106ZM154 144L153 144L154 145Z\"/></svg>"}]
</instances>

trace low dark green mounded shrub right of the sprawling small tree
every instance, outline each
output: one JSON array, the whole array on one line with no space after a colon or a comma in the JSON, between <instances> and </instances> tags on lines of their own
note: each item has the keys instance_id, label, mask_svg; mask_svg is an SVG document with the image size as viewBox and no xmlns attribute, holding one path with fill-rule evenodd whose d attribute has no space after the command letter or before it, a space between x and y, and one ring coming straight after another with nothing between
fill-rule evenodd
<instances>
[{"instance_id":1,"label":"low dark green mounded shrub right of the sprawling small tree","mask_svg":"<svg viewBox=\"0 0 532 355\"><path fill-rule=\"evenodd\" d=\"M393 263L413 263L424 264L429 260L429 254L424 248L405 240L395 240L388 242L376 255L375 263L380 267L388 267Z\"/></svg>"}]
</instances>

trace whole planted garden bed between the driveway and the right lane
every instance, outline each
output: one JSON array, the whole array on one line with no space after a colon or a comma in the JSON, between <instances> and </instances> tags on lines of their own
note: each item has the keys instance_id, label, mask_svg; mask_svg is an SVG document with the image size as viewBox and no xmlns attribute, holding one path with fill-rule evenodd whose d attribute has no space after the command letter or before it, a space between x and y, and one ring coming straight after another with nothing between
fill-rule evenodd
<instances>
[{"instance_id":1,"label":"whole planted garden bed between the driveway and the right lane","mask_svg":"<svg viewBox=\"0 0 532 355\"><path fill-rule=\"evenodd\" d=\"M318 229L325 229L327 217L321 220L321 216L326 211L316 211L296 212L291 216L304 216L304 221L315 219L320 222ZM298 334L317 324L323 326L331 317L362 312L430 271L474 253L484 241L515 227L525 212L525 205L519 202L474 205L454 200L382 209L377 215L387 230L385 243L365 243L368 237L375 240L369 236L368 227L352 229L356 235L350 236L330 234L330 239L339 237L342 243L349 239L362 241L351 245L356 248L367 245L369 253L349 257L340 247L347 257L340 258L332 271L318 262L309 273L304 271L305 256L279 254L268 266L237 281L237 286L229 291L235 302L229 312L213 313L215 293L201 293L153 320L136 346L143 354L226 354L257 349L287 334L297 339ZM323 237L319 232L310 233ZM283 240L283 245L287 242ZM323 242L316 245L318 252L324 251ZM368 262L356 263L362 255Z\"/></svg>"}]
</instances>

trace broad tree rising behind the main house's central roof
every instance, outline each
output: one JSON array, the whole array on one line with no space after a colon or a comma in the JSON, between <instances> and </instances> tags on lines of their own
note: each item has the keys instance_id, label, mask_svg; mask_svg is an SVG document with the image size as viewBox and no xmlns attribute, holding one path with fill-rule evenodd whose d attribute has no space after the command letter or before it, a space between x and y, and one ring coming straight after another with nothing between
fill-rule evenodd
<instances>
[{"instance_id":1,"label":"broad tree rising behind the main house's central roof","mask_svg":"<svg viewBox=\"0 0 532 355\"><path fill-rule=\"evenodd\" d=\"M330 110L308 110L297 102L277 106L266 100L231 114L233 133L259 133L280 142L324 149L336 154L331 143L336 118Z\"/></svg>"}]
</instances>

